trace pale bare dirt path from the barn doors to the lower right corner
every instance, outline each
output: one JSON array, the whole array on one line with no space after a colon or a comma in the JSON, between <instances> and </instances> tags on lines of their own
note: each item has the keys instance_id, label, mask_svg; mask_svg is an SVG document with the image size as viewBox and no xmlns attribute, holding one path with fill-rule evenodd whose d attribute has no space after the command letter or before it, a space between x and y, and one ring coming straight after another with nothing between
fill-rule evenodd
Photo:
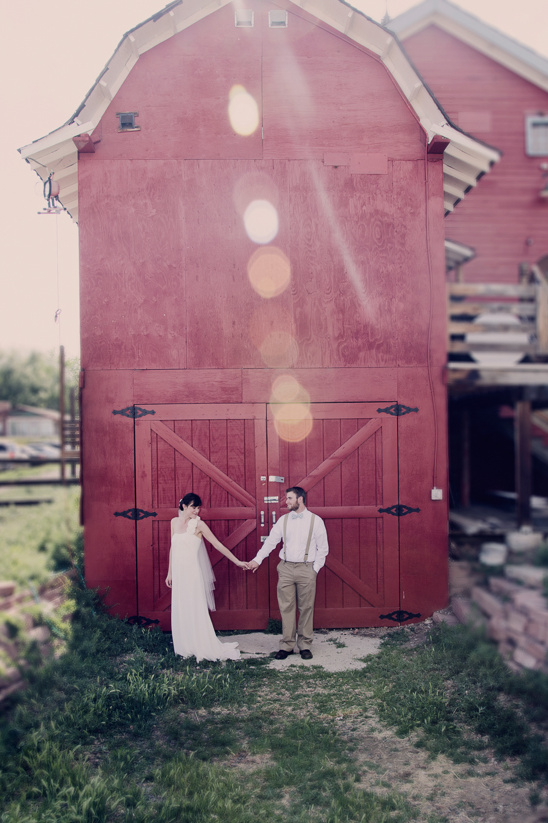
<instances>
[{"instance_id":1,"label":"pale bare dirt path from the barn doors to the lower right corner","mask_svg":"<svg viewBox=\"0 0 548 823\"><path fill-rule=\"evenodd\" d=\"M419 624L411 645L424 642L431 626L432 621ZM284 661L272 661L270 666L289 671L321 666L331 672L366 668L367 657L377 653L382 637L390 631L398 629L316 632L312 661L303 662L295 654ZM240 642L245 657L262 657L277 649L275 635L231 637L234 639ZM313 696L317 700L321 689L318 679L310 691L311 700ZM290 699L289 694L279 697ZM415 745L416 736L401 738L383 725L373 702L366 715L358 706L341 709L335 718L332 714L316 716L326 724L336 724L338 733L348 741L360 766L361 788L379 795L393 790L405 795L419 810L419 823L432 814L450 823L548 823L548 787L517 780L516 761L497 760L489 750L480 752L473 766L454 763L443 755L433 759ZM240 754L231 765L253 770L259 764L252 761Z\"/></svg>"}]
</instances>

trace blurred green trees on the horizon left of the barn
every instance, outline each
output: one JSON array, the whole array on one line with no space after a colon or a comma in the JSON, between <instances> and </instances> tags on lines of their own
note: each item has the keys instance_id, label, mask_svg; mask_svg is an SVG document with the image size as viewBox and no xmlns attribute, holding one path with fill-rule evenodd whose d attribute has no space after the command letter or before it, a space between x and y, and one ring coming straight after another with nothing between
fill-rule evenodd
<instances>
[{"instance_id":1,"label":"blurred green trees on the horizon left of the barn","mask_svg":"<svg viewBox=\"0 0 548 823\"><path fill-rule=\"evenodd\" d=\"M65 368L66 408L71 387L78 386L79 361ZM55 352L0 351L0 400L12 405L59 408L59 357Z\"/></svg>"}]
</instances>

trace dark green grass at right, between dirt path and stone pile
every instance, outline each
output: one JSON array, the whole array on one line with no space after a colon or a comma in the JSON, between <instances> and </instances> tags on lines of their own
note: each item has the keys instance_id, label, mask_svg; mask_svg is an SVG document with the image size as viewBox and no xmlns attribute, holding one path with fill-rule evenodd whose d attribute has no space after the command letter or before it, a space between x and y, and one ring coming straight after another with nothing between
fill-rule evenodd
<instances>
[{"instance_id":1,"label":"dark green grass at right, between dirt path and stone pile","mask_svg":"<svg viewBox=\"0 0 548 823\"><path fill-rule=\"evenodd\" d=\"M524 779L548 780L548 678L515 675L481 634L441 625L405 654L389 642L368 677L381 719L400 735L416 733L430 753L473 763L490 747L519 758Z\"/></svg>"}]
</instances>

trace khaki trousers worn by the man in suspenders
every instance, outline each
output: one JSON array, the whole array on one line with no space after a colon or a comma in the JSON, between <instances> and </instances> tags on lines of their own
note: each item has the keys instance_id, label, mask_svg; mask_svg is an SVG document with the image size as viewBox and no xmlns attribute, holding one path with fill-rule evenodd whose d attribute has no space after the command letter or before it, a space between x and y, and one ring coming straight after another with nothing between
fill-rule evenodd
<instances>
[{"instance_id":1,"label":"khaki trousers worn by the man in suspenders","mask_svg":"<svg viewBox=\"0 0 548 823\"><path fill-rule=\"evenodd\" d=\"M293 650L295 639L299 651L312 645L312 620L316 596L316 572L312 563L278 564L278 606L282 615L283 637L280 649ZM296 610L299 609L297 628ZM295 638L296 635L296 638Z\"/></svg>"}]
</instances>

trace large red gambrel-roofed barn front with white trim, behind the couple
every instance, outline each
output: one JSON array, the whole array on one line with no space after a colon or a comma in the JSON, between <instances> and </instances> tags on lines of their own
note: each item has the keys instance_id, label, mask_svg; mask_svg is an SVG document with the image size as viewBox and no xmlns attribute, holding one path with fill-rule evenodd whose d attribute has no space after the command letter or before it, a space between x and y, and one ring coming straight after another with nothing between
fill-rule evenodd
<instances>
[{"instance_id":1,"label":"large red gambrel-roofed barn front with white trim, behind the couple","mask_svg":"<svg viewBox=\"0 0 548 823\"><path fill-rule=\"evenodd\" d=\"M299 484L317 626L443 607L443 217L498 153L393 35L338 0L175 2L22 151L80 225L88 585L168 628L179 497L252 558ZM275 563L214 559L216 626L264 628Z\"/></svg>"}]
</instances>

